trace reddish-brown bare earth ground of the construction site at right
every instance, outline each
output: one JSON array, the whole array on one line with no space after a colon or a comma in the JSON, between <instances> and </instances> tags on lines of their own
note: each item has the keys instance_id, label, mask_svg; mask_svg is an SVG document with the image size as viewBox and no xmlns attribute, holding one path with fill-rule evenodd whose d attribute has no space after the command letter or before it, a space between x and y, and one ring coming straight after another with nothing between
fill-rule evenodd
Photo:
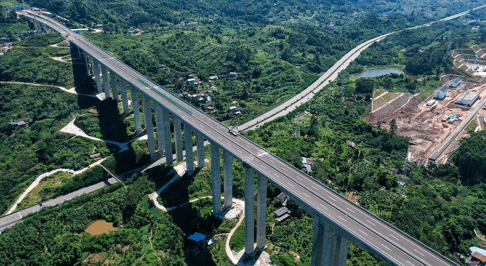
<instances>
[{"instance_id":1,"label":"reddish-brown bare earth ground of the construction site at right","mask_svg":"<svg viewBox=\"0 0 486 266\"><path fill-rule=\"evenodd\" d=\"M395 119L398 126L397 132L402 136L411 138L410 142L412 145L409 148L411 158L409 160L415 161L419 158L428 158L437 148L438 143L446 139L460 124L462 118L465 118L471 112L471 109L480 102L480 100L477 100L472 107L468 107L454 104L455 100L463 92L479 91L483 87L484 85L473 87L472 85L461 84L457 89L449 88L448 98L437 100L437 103L432 107L426 106L426 102L432 99L432 96L421 103L412 96L407 104L396 110L396 112L382 118L382 126L389 129L390 121ZM483 97L486 97L486 91L480 94L480 99ZM441 121L442 117L451 114L458 116L454 123ZM486 110L481 109L478 112L478 117L473 120L478 123L479 130L484 127L484 116L486 116ZM366 120L374 125L378 123L375 116L371 113L366 117ZM458 140L468 136L467 132L462 131L446 152L453 151L459 145Z\"/></svg>"}]
</instances>

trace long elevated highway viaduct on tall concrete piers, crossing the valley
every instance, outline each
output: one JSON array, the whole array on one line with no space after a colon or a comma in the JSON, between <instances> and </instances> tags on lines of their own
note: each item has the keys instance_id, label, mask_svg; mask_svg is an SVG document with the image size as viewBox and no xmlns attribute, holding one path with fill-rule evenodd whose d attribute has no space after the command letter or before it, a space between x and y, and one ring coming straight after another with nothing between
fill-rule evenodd
<instances>
[{"instance_id":1,"label":"long elevated highway viaduct on tall concrete piers, crossing the valley","mask_svg":"<svg viewBox=\"0 0 486 266\"><path fill-rule=\"evenodd\" d=\"M265 249L267 182L287 193L303 210L314 217L312 265L346 265L349 241L393 265L457 265L423 243L398 230L386 221L349 201L336 191L312 179L309 175L276 157L241 135L233 135L229 128L191 104L179 99L157 83L114 58L82 36L57 21L34 13L22 12L39 26L57 31L67 37L84 56L87 72L94 75L98 92L118 99L119 80L124 112L129 112L127 86L130 87L136 130L141 131L137 95L143 98L145 130L150 155L172 151L169 116L173 117L177 161L183 160L183 131L188 171L194 169L192 139L196 138L197 167L204 166L204 138L211 143L211 169L213 214L219 215L232 205L232 158L245 167L245 254ZM101 74L100 74L101 72ZM111 86L110 86L110 76ZM102 86L103 80L103 86ZM158 141L154 141L151 103L155 105L155 128ZM158 150L157 150L158 149ZM222 149L222 186L220 155ZM169 158L166 156L166 158ZM167 165L172 162L170 159ZM254 215L255 173L257 180L257 214ZM217 195L224 189L224 202ZM256 219L256 247L253 226Z\"/></svg>"}]
</instances>

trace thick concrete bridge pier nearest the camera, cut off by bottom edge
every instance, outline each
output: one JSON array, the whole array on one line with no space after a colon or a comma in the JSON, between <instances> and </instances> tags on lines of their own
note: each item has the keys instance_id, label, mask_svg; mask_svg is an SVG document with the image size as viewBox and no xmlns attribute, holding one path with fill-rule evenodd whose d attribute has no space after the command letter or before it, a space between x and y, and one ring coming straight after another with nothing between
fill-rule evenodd
<instances>
[{"instance_id":1,"label":"thick concrete bridge pier nearest the camera, cut off by bottom edge","mask_svg":"<svg viewBox=\"0 0 486 266\"><path fill-rule=\"evenodd\" d=\"M331 224L314 216L311 266L346 266L349 241L331 230Z\"/></svg>"}]
</instances>

